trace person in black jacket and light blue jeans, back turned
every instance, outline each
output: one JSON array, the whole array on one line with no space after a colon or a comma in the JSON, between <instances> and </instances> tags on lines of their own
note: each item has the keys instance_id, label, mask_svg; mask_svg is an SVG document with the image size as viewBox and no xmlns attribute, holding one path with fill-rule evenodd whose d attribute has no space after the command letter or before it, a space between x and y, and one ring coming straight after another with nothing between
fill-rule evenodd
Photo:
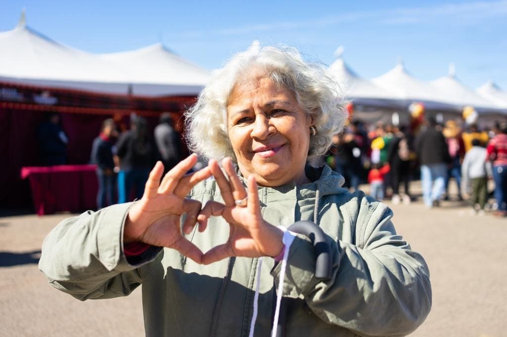
<instances>
[{"instance_id":1,"label":"person in black jacket and light blue jeans, back turned","mask_svg":"<svg viewBox=\"0 0 507 337\"><path fill-rule=\"evenodd\" d=\"M433 117L428 118L428 124L419 138L417 154L421 163L423 201L431 208L440 205L451 158L442 128Z\"/></svg>"}]
</instances>

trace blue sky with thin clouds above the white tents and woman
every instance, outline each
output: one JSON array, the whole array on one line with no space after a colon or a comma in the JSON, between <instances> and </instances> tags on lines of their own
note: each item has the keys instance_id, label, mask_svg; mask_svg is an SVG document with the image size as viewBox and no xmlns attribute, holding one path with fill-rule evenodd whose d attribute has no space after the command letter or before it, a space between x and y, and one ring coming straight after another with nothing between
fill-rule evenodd
<instances>
[{"instance_id":1,"label":"blue sky with thin clouds above the white tents and woman","mask_svg":"<svg viewBox=\"0 0 507 337\"><path fill-rule=\"evenodd\" d=\"M254 39L297 47L308 59L334 61L338 46L371 78L401 58L416 77L447 74L476 88L493 79L507 91L507 1L16 1L0 3L0 31L25 7L30 27L89 52L136 49L162 41L213 69Z\"/></svg>"}]
</instances>

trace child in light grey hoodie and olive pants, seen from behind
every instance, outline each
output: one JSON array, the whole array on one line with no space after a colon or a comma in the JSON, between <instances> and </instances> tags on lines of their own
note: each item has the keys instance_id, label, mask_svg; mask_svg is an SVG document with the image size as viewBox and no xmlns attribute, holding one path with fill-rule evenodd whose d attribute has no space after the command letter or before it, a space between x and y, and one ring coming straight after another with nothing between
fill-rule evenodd
<instances>
[{"instance_id":1,"label":"child in light grey hoodie and olive pants, seen from behind","mask_svg":"<svg viewBox=\"0 0 507 337\"><path fill-rule=\"evenodd\" d=\"M480 146L478 139L472 140L472 148L466 152L461 164L462 190L469 191L472 185L472 206L475 214L484 214L484 205L488 198L488 177L491 177L491 163L487 160L488 154Z\"/></svg>"}]
</instances>

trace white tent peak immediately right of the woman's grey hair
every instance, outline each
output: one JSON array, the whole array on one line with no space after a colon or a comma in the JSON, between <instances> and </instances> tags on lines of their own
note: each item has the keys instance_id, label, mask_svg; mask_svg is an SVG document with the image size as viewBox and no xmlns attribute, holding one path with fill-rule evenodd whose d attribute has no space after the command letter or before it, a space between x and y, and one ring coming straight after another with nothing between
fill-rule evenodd
<instances>
[{"instance_id":1,"label":"white tent peak immediately right of the woman's grey hair","mask_svg":"<svg viewBox=\"0 0 507 337\"><path fill-rule=\"evenodd\" d=\"M340 85L343 95L358 104L377 107L398 107L403 105L399 100L384 89L376 86L368 79L358 76L339 57L329 67L330 73Z\"/></svg>"}]
</instances>

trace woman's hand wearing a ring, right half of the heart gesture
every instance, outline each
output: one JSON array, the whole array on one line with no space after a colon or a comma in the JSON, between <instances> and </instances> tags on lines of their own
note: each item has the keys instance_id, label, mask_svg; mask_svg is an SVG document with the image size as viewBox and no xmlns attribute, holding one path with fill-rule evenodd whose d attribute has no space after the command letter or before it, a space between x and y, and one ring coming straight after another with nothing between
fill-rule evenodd
<instances>
[{"instance_id":1,"label":"woman's hand wearing a ring, right half of the heart gesture","mask_svg":"<svg viewBox=\"0 0 507 337\"><path fill-rule=\"evenodd\" d=\"M225 158L222 165L229 181L216 160L211 159L208 164L220 188L224 203L208 201L197 221L199 231L202 232L209 217L222 216L230 225L229 239L226 243L208 250L203 255L201 263L210 264L232 256L257 258L279 255L283 249L283 232L262 218L255 178L252 175L248 177L247 192L234 172L231 158ZM235 200L245 197L246 205L240 206L235 203Z\"/></svg>"}]
</instances>

